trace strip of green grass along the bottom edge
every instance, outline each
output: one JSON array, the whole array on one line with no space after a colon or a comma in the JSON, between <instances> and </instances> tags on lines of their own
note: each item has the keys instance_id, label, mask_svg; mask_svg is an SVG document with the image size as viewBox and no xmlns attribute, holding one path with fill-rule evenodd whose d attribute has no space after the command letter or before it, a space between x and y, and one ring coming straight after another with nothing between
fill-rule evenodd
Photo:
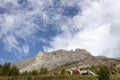
<instances>
[{"instance_id":1,"label":"strip of green grass along the bottom edge","mask_svg":"<svg viewBox=\"0 0 120 80\"><path fill-rule=\"evenodd\" d=\"M34 78L34 79L31 79ZM94 76L57 76L57 77L50 77L50 76L28 76L26 77L0 77L0 80L97 80ZM120 75L112 75L110 80L120 80Z\"/></svg>"}]
</instances>

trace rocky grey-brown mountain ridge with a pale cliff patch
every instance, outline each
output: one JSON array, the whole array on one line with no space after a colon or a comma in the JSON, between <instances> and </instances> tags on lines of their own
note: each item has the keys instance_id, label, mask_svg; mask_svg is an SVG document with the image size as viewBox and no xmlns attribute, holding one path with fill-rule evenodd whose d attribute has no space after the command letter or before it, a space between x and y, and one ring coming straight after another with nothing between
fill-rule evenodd
<instances>
[{"instance_id":1,"label":"rocky grey-brown mountain ridge with a pale cliff patch","mask_svg":"<svg viewBox=\"0 0 120 80\"><path fill-rule=\"evenodd\" d=\"M26 59L16 63L15 65L20 69L20 72L39 70L41 67L47 67L49 70L57 67L89 67L92 65L111 65L120 64L120 60L92 56L90 52L85 49L76 49L71 51L57 50L52 52L39 52L37 56L31 59Z\"/></svg>"}]
</instances>

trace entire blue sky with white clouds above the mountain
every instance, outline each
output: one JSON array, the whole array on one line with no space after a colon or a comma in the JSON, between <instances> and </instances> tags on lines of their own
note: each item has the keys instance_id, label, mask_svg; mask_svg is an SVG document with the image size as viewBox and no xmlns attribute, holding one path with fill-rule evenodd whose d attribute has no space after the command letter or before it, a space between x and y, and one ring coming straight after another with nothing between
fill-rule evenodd
<instances>
[{"instance_id":1,"label":"entire blue sky with white clouds above the mountain","mask_svg":"<svg viewBox=\"0 0 120 80\"><path fill-rule=\"evenodd\" d=\"M0 63L39 51L120 57L120 0L0 0Z\"/></svg>"}]
</instances>

